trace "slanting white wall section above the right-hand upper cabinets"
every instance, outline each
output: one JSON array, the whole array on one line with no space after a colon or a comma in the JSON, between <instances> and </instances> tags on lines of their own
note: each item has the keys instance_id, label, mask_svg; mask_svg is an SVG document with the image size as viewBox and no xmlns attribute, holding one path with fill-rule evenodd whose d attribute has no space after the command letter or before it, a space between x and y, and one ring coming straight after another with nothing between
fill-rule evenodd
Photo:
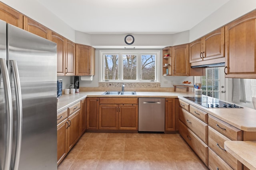
<instances>
[{"instance_id":1,"label":"slanting white wall section above the right-hand upper cabinets","mask_svg":"<svg viewBox=\"0 0 256 170\"><path fill-rule=\"evenodd\" d=\"M254 10L256 0L230 0L206 19L190 29L189 40L194 41L232 20Z\"/></svg>"}]
</instances>

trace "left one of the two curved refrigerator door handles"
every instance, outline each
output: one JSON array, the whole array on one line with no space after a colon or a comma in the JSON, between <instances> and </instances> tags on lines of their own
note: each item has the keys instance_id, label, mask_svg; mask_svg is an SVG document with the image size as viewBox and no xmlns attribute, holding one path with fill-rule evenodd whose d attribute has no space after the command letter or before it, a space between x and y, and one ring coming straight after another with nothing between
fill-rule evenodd
<instances>
[{"instance_id":1,"label":"left one of the two curved refrigerator door handles","mask_svg":"<svg viewBox=\"0 0 256 170\"><path fill-rule=\"evenodd\" d=\"M6 59L0 59L0 71L2 73L3 85L4 85L4 96L6 102L7 111L7 127L6 127L6 148L4 158L4 170L10 169L11 156L12 156L12 94L10 79L8 76L8 68L6 65Z\"/></svg>"}]
</instances>

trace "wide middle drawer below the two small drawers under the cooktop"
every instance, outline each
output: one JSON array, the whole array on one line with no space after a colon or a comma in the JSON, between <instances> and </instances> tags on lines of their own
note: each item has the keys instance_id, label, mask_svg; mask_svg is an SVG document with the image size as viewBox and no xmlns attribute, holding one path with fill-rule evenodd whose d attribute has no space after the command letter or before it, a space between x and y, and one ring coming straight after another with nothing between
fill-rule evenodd
<instances>
[{"instance_id":1,"label":"wide middle drawer below the two small drawers under the cooktop","mask_svg":"<svg viewBox=\"0 0 256 170\"><path fill-rule=\"evenodd\" d=\"M206 123L194 117L182 108L179 108L179 119L196 135L198 135L204 143L208 144L208 125Z\"/></svg>"}]
</instances>

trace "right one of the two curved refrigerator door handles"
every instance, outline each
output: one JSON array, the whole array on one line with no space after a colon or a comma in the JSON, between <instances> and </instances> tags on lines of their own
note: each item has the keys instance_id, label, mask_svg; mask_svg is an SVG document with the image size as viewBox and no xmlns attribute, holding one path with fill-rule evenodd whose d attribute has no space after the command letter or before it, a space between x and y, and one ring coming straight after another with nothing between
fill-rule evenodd
<instances>
[{"instance_id":1,"label":"right one of the two curved refrigerator door handles","mask_svg":"<svg viewBox=\"0 0 256 170\"><path fill-rule=\"evenodd\" d=\"M21 141L22 141L22 97L21 97L21 88L20 88L20 76L18 72L17 62L15 60L10 60L13 80L15 87L15 96L17 102L17 141L16 141L16 151L14 155L14 170L18 170L19 161L20 161L20 150L21 150Z\"/></svg>"}]
</instances>

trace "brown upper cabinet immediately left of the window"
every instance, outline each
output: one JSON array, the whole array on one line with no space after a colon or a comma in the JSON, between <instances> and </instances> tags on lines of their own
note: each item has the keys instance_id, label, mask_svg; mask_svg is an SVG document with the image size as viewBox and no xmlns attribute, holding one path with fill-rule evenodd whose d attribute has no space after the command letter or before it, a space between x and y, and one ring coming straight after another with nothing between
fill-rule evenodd
<instances>
[{"instance_id":1,"label":"brown upper cabinet immediately left of the window","mask_svg":"<svg viewBox=\"0 0 256 170\"><path fill-rule=\"evenodd\" d=\"M76 44L76 76L95 75L95 49Z\"/></svg>"}]
</instances>

